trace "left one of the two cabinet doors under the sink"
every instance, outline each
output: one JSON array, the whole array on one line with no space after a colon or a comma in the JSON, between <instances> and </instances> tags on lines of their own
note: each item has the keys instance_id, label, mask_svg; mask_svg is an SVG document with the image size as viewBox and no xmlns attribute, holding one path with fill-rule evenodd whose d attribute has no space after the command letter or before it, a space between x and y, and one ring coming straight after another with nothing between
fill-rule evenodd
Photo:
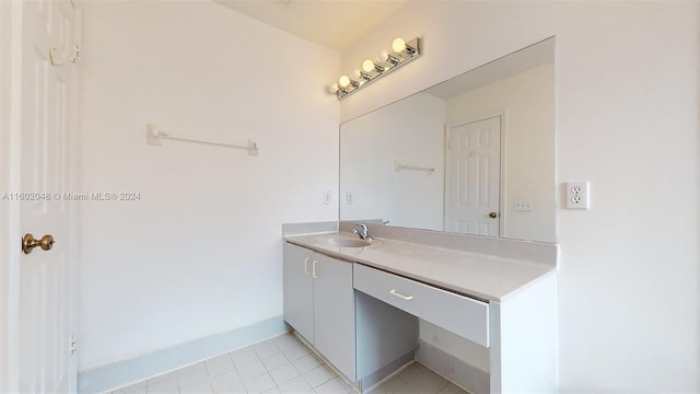
<instances>
[{"instance_id":1,"label":"left one of the two cabinet doors under the sink","mask_svg":"<svg viewBox=\"0 0 700 394\"><path fill-rule=\"evenodd\" d=\"M314 252L284 243L284 321L311 344L314 343L314 283L311 276Z\"/></svg>"}]
</instances>

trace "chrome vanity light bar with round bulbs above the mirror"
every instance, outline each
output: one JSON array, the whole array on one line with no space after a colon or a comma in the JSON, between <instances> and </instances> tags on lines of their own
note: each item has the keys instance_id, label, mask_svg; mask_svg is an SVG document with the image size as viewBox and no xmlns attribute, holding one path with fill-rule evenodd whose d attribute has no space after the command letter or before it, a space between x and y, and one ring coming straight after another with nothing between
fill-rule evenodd
<instances>
[{"instance_id":1,"label":"chrome vanity light bar with round bulbs above the mirror","mask_svg":"<svg viewBox=\"0 0 700 394\"><path fill-rule=\"evenodd\" d=\"M420 37L416 37L408 43L401 37L394 38L392 49L392 53L382 50L376 61L372 59L364 60L362 70L353 70L352 78L341 76L338 79L338 83L332 83L328 86L328 91L335 93L338 100L342 100L368 83L416 59L421 53Z\"/></svg>"}]
</instances>

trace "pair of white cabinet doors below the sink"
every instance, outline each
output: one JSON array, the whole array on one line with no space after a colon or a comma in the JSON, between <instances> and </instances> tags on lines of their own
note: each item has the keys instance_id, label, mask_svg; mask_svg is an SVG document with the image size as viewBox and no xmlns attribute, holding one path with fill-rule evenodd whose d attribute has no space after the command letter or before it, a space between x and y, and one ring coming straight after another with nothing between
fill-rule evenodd
<instances>
[{"instance_id":1,"label":"pair of white cabinet doors below the sink","mask_svg":"<svg viewBox=\"0 0 700 394\"><path fill-rule=\"evenodd\" d=\"M355 380L352 263L284 244L284 321Z\"/></svg>"}]
</instances>

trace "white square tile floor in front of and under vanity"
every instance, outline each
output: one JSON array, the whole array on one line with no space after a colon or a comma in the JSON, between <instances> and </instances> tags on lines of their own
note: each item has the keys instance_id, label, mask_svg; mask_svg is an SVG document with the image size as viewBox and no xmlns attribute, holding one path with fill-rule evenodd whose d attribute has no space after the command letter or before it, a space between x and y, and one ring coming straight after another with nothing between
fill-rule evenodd
<instances>
[{"instance_id":1,"label":"white square tile floor in front of and under vanity","mask_svg":"<svg viewBox=\"0 0 700 394\"><path fill-rule=\"evenodd\" d=\"M113 394L354 393L302 344L285 334ZM466 394L418 362L369 391L372 394Z\"/></svg>"}]
</instances>

